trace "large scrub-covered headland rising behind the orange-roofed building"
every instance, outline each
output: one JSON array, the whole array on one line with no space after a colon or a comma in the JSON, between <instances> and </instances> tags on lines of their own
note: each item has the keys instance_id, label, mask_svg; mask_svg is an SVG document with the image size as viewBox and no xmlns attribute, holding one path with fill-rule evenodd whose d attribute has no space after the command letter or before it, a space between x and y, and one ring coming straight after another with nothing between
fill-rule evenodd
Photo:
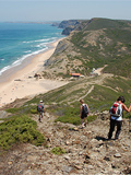
<instances>
[{"instance_id":1,"label":"large scrub-covered headland rising behind the orange-roofed building","mask_svg":"<svg viewBox=\"0 0 131 175\"><path fill-rule=\"evenodd\" d=\"M131 78L131 21L70 20L59 27L68 36L46 62L45 77L87 75L93 68L107 65L104 72Z\"/></svg>"}]
</instances>

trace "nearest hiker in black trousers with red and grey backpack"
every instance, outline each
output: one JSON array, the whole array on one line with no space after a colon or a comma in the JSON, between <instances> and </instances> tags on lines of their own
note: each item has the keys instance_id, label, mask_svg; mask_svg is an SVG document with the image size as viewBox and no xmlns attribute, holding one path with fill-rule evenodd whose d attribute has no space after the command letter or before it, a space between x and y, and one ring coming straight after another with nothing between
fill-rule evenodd
<instances>
[{"instance_id":1,"label":"nearest hiker in black trousers with red and grey backpack","mask_svg":"<svg viewBox=\"0 0 131 175\"><path fill-rule=\"evenodd\" d=\"M124 105L124 97L123 96L119 96L117 102L114 103L114 105L110 108L110 129L109 129L109 133L108 133L108 140L111 139L112 137L112 132L115 130L115 126L117 126L117 131L115 135L115 140L119 138L120 131L121 131L121 126L122 126L122 115L123 115L123 110L126 112L130 112L131 110L131 105L128 108ZM118 114L119 113L119 114Z\"/></svg>"}]
</instances>

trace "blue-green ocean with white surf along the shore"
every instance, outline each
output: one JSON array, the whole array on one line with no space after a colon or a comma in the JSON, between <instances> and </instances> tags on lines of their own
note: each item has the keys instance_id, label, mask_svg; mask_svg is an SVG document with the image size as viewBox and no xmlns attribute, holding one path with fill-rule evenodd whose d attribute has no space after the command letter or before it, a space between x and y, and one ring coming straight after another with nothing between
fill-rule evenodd
<instances>
[{"instance_id":1,"label":"blue-green ocean with white surf along the shore","mask_svg":"<svg viewBox=\"0 0 131 175\"><path fill-rule=\"evenodd\" d=\"M62 38L62 30L46 23L0 23L0 75Z\"/></svg>"}]
</instances>

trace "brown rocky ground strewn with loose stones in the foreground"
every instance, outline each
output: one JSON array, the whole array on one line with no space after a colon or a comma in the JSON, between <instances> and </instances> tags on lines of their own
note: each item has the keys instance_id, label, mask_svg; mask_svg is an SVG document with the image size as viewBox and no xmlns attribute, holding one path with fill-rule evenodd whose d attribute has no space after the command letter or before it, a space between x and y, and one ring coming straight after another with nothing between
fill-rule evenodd
<instances>
[{"instance_id":1,"label":"brown rocky ground strewn with loose stones in the foreground","mask_svg":"<svg viewBox=\"0 0 131 175\"><path fill-rule=\"evenodd\" d=\"M119 175L131 174L129 120L123 120L119 140L106 140L109 119L97 118L85 128L53 122L45 114L43 122L33 117L48 147L22 144L0 158L1 175ZM50 151L59 147L64 154Z\"/></svg>"}]
</instances>

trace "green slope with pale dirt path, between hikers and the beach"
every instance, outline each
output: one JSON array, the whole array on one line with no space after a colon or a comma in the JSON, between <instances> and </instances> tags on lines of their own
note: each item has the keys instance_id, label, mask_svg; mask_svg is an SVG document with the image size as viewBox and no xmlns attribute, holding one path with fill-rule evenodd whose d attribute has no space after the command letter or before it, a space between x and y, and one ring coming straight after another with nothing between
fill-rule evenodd
<instances>
[{"instance_id":1,"label":"green slope with pale dirt path, between hikers and the beach","mask_svg":"<svg viewBox=\"0 0 131 175\"><path fill-rule=\"evenodd\" d=\"M80 98L88 104L91 114L95 115L96 113L109 110L111 104L120 95L126 97L126 105L129 106L130 88L131 80L103 74L71 82L48 93L40 94L19 108L8 108L7 110L13 113L13 115L34 115L37 113L36 105L39 100L43 100L47 106L46 112L55 115L56 119L59 118L58 120L80 125ZM127 116L124 115L124 117Z\"/></svg>"}]
</instances>

